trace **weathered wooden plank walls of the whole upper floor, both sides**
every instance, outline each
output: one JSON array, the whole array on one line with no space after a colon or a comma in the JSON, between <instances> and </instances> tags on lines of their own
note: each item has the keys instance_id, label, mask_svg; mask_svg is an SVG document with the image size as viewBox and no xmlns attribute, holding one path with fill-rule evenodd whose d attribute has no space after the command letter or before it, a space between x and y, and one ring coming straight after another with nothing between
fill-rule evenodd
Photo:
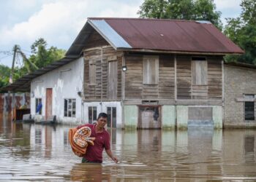
<instances>
[{"instance_id":1,"label":"weathered wooden plank walls of the whole upper floor, both sides","mask_svg":"<svg viewBox=\"0 0 256 182\"><path fill-rule=\"evenodd\" d=\"M84 50L84 93L86 100L121 100L121 66L123 52L110 46ZM148 56L148 55L147 55ZM125 55L124 99L125 100L174 100L175 81L178 100L221 100L222 58L206 57L207 84L192 82L192 56L176 56L176 80L174 55L159 55L158 84L143 84L143 55ZM89 61L96 66L96 83L89 83ZM116 97L108 98L108 62L117 61ZM116 98L116 99L115 99Z\"/></svg>"}]
</instances>

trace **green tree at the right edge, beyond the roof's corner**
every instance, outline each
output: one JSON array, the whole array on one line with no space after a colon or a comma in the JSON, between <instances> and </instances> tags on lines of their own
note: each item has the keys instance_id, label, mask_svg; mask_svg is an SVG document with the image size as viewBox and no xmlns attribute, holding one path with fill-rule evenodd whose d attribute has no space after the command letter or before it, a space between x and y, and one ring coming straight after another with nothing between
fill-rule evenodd
<instances>
[{"instance_id":1,"label":"green tree at the right edge, beyond the roof's corner","mask_svg":"<svg viewBox=\"0 0 256 182\"><path fill-rule=\"evenodd\" d=\"M243 0L240 6L241 15L236 18L227 18L224 32L245 53L243 55L228 55L225 57L225 61L256 65L256 1Z\"/></svg>"}]
</instances>

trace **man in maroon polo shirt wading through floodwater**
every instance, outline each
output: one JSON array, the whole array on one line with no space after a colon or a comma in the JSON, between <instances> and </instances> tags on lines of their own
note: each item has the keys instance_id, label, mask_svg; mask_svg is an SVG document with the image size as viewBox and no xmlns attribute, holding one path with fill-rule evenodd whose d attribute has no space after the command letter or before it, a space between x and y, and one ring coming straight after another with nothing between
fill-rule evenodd
<instances>
[{"instance_id":1,"label":"man in maroon polo shirt wading through floodwater","mask_svg":"<svg viewBox=\"0 0 256 182\"><path fill-rule=\"evenodd\" d=\"M91 163L102 163L102 151L105 149L108 156L113 159L114 162L118 162L118 159L113 156L110 149L110 135L105 130L105 125L107 124L108 114L99 113L96 124L83 124L78 126L81 127L90 127L91 128L91 137L95 137L94 146L88 146L86 154L83 156L82 163L91 162Z\"/></svg>"}]
</instances>

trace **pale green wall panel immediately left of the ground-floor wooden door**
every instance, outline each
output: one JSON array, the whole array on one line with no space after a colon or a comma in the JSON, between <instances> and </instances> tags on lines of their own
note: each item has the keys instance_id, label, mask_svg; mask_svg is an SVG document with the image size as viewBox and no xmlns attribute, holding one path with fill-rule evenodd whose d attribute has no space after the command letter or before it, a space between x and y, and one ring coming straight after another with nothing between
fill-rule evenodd
<instances>
[{"instance_id":1,"label":"pale green wall panel immediately left of the ground-floor wooden door","mask_svg":"<svg viewBox=\"0 0 256 182\"><path fill-rule=\"evenodd\" d=\"M124 106L124 128L136 129L138 125L138 106Z\"/></svg>"}]
</instances>

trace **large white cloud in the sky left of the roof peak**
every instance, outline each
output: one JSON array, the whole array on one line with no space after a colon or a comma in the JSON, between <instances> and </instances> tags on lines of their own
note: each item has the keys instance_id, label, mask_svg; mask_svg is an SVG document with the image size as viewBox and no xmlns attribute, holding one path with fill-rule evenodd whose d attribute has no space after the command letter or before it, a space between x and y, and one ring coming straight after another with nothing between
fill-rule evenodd
<instances>
[{"instance_id":1,"label":"large white cloud in the sky left of the roof peak","mask_svg":"<svg viewBox=\"0 0 256 182\"><path fill-rule=\"evenodd\" d=\"M86 23L87 17L138 17L140 4L140 1L132 5L118 0L50 1L43 4L28 20L11 27L1 26L0 48L20 44L20 47L29 49L36 39L42 37L49 45L67 50Z\"/></svg>"}]
</instances>

